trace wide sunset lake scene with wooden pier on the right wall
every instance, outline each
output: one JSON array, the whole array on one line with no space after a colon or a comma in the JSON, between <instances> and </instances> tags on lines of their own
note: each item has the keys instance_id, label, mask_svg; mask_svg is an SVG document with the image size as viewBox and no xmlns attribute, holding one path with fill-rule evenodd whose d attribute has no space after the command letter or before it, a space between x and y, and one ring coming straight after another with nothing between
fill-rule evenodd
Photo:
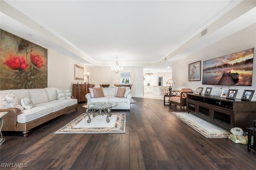
<instances>
[{"instance_id":1,"label":"wide sunset lake scene with wooden pier on the right wall","mask_svg":"<svg viewBox=\"0 0 256 170\"><path fill-rule=\"evenodd\" d=\"M251 48L204 61L202 83L252 86L253 57Z\"/></svg>"}]
</instances>

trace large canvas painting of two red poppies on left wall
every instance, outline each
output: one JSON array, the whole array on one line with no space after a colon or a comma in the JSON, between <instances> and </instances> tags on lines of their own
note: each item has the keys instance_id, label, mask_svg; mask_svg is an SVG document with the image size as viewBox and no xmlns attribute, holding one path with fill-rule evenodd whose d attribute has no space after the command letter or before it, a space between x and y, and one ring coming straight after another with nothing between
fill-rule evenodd
<instances>
[{"instance_id":1,"label":"large canvas painting of two red poppies on left wall","mask_svg":"<svg viewBox=\"0 0 256 170\"><path fill-rule=\"evenodd\" d=\"M47 49L0 30L0 90L47 87Z\"/></svg>"}]
</instances>

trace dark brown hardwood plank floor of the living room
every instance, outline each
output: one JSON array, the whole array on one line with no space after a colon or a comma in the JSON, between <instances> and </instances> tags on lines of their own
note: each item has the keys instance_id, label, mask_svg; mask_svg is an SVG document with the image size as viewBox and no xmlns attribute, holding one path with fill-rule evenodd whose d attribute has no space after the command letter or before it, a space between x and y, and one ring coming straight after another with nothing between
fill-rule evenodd
<instances>
[{"instance_id":1,"label":"dark brown hardwood plank floor of the living room","mask_svg":"<svg viewBox=\"0 0 256 170\"><path fill-rule=\"evenodd\" d=\"M54 134L82 113L70 111L30 130L7 132L0 145L0 169L23 163L30 170L254 170L256 150L228 138L205 138L169 111L163 100L134 98L125 134ZM186 111L186 107L183 108ZM26 163L26 164L25 164ZM10 164L9 164L10 165Z\"/></svg>"}]
</instances>

